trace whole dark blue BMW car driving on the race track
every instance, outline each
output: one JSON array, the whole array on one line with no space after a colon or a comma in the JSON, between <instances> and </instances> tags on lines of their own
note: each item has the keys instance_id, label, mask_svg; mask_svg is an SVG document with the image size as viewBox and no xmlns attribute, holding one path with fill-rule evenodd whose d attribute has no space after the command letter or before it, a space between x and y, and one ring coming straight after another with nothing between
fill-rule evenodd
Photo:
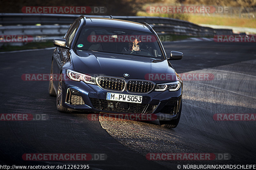
<instances>
[{"instance_id":1,"label":"whole dark blue BMW car driving on the race track","mask_svg":"<svg viewBox=\"0 0 256 170\"><path fill-rule=\"evenodd\" d=\"M53 43L49 93L60 112L146 114L178 125L182 80L170 61L183 54L166 55L147 23L80 16Z\"/></svg>"}]
</instances>

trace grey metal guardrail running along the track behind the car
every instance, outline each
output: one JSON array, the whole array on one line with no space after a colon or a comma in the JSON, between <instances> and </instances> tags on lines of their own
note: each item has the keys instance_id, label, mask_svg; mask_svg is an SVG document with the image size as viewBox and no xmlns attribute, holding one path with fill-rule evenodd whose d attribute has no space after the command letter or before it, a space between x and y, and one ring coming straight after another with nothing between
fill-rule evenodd
<instances>
[{"instance_id":1,"label":"grey metal guardrail running along the track behind the car","mask_svg":"<svg viewBox=\"0 0 256 170\"><path fill-rule=\"evenodd\" d=\"M80 15L72 14L23 14L0 13L1 35L44 35L48 38L63 36L70 24ZM103 17L85 15L86 17ZM123 19L134 22L146 22L159 34L180 34L192 36L211 36L220 34L232 34L231 29L214 29L198 26L194 23L164 17L137 17L137 16L112 16L115 19ZM40 24L40 26L36 26ZM67 25L68 24L68 25Z\"/></svg>"}]
</instances>

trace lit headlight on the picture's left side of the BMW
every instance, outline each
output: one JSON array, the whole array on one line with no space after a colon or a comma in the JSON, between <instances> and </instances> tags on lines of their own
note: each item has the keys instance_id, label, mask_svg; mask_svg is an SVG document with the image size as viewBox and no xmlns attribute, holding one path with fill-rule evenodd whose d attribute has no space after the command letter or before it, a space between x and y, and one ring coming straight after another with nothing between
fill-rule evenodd
<instances>
[{"instance_id":1,"label":"lit headlight on the picture's left side of the BMW","mask_svg":"<svg viewBox=\"0 0 256 170\"><path fill-rule=\"evenodd\" d=\"M75 81L84 81L85 83L90 83L95 85L95 77L76 72L74 70L67 70L66 71L68 78Z\"/></svg>"}]
</instances>

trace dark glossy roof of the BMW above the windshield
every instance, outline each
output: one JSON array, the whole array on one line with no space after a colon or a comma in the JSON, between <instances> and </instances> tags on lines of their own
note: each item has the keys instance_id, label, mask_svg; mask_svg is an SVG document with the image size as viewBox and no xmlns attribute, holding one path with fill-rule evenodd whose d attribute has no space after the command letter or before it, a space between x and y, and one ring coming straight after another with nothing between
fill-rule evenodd
<instances>
[{"instance_id":1,"label":"dark glossy roof of the BMW above the windshield","mask_svg":"<svg viewBox=\"0 0 256 170\"><path fill-rule=\"evenodd\" d=\"M152 33L150 29L144 24L112 18L86 17L85 26L112 27Z\"/></svg>"}]
</instances>

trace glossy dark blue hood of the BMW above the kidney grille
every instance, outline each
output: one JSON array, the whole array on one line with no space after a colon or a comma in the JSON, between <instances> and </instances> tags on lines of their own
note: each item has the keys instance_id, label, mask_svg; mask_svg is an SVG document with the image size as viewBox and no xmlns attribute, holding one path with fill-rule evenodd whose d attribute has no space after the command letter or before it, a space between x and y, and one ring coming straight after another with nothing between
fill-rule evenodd
<instances>
[{"instance_id":1,"label":"glossy dark blue hood of the BMW above the kidney grille","mask_svg":"<svg viewBox=\"0 0 256 170\"><path fill-rule=\"evenodd\" d=\"M177 79L167 60L81 50L71 51L71 59L76 71L94 77L106 75L126 79L147 79L156 83ZM125 73L129 74L129 77L124 77Z\"/></svg>"}]
</instances>

